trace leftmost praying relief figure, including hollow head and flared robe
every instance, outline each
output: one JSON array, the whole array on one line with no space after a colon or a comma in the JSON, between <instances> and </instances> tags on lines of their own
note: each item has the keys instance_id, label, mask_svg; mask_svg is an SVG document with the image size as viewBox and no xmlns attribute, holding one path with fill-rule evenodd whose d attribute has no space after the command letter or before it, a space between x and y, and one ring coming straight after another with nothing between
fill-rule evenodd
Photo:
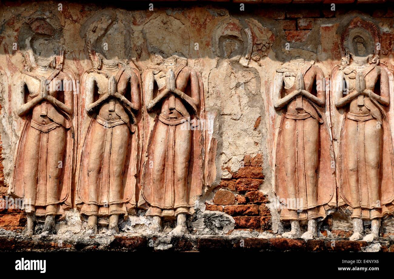
<instances>
[{"instance_id":1,"label":"leftmost praying relief figure, including hollow head and flared robe","mask_svg":"<svg viewBox=\"0 0 394 279\"><path fill-rule=\"evenodd\" d=\"M24 124L9 193L24 199L28 237L34 233L35 216L46 216L43 234L48 234L54 232L55 216L63 217L72 207L76 79L63 69L61 27L56 19L35 13L21 28L26 70L13 94Z\"/></svg>"}]
</instances>

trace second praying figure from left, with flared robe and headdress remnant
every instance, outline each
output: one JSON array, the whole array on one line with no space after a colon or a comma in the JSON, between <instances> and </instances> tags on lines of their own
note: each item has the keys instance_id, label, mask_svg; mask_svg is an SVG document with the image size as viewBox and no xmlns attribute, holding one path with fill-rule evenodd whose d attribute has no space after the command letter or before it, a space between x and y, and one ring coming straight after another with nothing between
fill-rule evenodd
<instances>
[{"instance_id":1,"label":"second praying figure from left, with flared robe and headdress remnant","mask_svg":"<svg viewBox=\"0 0 394 279\"><path fill-rule=\"evenodd\" d=\"M95 36L104 36L107 25L97 25ZM86 40L92 68L81 79L87 128L80 141L76 204L88 216L87 234L97 233L99 216L109 216L107 234L113 234L119 232L119 215L136 207L140 73L133 62L107 59Z\"/></svg>"}]
</instances>

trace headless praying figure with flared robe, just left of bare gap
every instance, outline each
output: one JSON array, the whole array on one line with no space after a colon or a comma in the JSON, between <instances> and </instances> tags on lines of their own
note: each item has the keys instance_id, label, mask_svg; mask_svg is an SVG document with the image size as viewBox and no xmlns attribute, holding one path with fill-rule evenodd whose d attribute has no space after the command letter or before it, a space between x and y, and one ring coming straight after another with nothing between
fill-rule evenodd
<instances>
[{"instance_id":1,"label":"headless praying figure with flared robe, just left of bare gap","mask_svg":"<svg viewBox=\"0 0 394 279\"><path fill-rule=\"evenodd\" d=\"M171 234L179 236L187 233L186 216L203 187L203 133L196 126L204 110L203 87L186 59L156 53L151 62L143 74L148 146L138 204L148 208L156 231L162 218L176 217Z\"/></svg>"}]
</instances>

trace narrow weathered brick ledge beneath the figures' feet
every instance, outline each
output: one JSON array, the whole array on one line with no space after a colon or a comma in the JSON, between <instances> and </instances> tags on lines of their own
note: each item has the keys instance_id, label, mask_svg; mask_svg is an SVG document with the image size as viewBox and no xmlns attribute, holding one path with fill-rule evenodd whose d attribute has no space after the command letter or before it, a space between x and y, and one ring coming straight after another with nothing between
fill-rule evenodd
<instances>
[{"instance_id":1,"label":"narrow weathered brick ledge beneath the figures' feet","mask_svg":"<svg viewBox=\"0 0 394 279\"><path fill-rule=\"evenodd\" d=\"M0 235L0 251L383 251L394 252L394 239L374 242L343 238L302 240L213 235L186 235L181 238L157 235L49 235L25 238L7 232Z\"/></svg>"}]
</instances>

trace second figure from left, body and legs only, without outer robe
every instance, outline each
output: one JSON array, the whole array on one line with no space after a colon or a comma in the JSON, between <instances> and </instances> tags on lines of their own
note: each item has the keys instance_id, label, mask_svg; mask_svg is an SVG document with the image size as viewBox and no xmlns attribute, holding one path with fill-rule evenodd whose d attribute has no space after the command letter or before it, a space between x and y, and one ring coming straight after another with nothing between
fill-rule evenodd
<instances>
[{"instance_id":1,"label":"second figure from left, body and legs only, without outer robe","mask_svg":"<svg viewBox=\"0 0 394 279\"><path fill-rule=\"evenodd\" d=\"M129 83L131 101L124 96ZM99 91L99 99L96 102L93 99L95 86ZM140 107L138 78L134 73L120 69L117 64L104 64L100 73L92 72L88 75L86 90L86 111L96 113L96 122L91 131L87 162L87 187L89 201L92 203L87 205L89 209L85 211L84 205L81 212L89 216L87 234L97 233L100 207L109 207L107 233L112 235L119 232L119 214L126 214L125 204L122 203L122 177L131 137L130 115L133 110L136 111ZM105 149L106 144L110 146L108 150ZM106 154L108 158L105 157ZM102 188L97 187L99 181L102 185L105 184ZM98 192L97 188L104 190Z\"/></svg>"}]
</instances>

